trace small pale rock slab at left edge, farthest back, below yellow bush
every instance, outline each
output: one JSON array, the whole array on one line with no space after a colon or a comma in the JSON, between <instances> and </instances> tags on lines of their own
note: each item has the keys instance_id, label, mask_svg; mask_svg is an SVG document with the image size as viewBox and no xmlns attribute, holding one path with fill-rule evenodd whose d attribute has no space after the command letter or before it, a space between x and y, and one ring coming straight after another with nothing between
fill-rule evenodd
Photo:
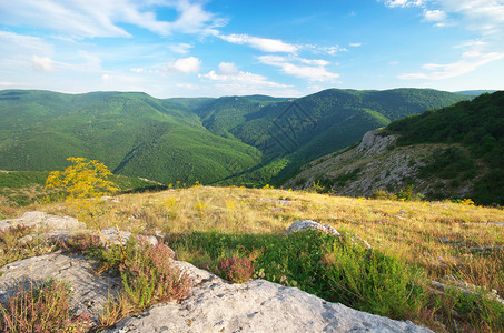
<instances>
[{"instance_id":1,"label":"small pale rock slab at left edge, farthest back, below yellow bush","mask_svg":"<svg viewBox=\"0 0 504 333\"><path fill-rule=\"evenodd\" d=\"M70 216L58 216L45 212L26 212L21 218L1 220L0 230L11 226L27 225L33 228L48 228L50 230L82 230L86 224Z\"/></svg>"}]
</instances>

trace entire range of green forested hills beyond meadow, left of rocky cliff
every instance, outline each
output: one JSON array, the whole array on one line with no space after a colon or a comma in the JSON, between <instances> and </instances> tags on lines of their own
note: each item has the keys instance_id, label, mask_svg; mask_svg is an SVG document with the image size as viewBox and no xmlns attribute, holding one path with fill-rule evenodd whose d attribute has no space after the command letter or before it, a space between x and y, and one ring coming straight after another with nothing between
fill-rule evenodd
<instances>
[{"instance_id":1,"label":"entire range of green forested hills beyond meadow, left of rocky cliff","mask_svg":"<svg viewBox=\"0 0 504 333\"><path fill-rule=\"evenodd\" d=\"M466 99L427 89L330 89L300 99L6 90L0 170L61 170L68 157L85 157L164 183L261 185L392 120Z\"/></svg>"}]
</instances>

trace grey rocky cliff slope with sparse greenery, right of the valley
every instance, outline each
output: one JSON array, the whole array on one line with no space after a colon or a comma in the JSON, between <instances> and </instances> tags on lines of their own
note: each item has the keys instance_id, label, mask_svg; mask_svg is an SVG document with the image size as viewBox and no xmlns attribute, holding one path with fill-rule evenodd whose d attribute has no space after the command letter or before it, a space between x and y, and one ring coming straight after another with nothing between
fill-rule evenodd
<instances>
[{"instance_id":1,"label":"grey rocky cliff slope with sparse greenery, right of the valley","mask_svg":"<svg viewBox=\"0 0 504 333\"><path fill-rule=\"evenodd\" d=\"M377 189L396 192L414 185L423 194L466 196L472 181L453 186L449 180L419 178L421 170L436 160L448 144L396 145L397 137L383 129L367 132L353 148L334 152L305 164L285 188L309 189L314 183L336 195L370 196Z\"/></svg>"}]
</instances>

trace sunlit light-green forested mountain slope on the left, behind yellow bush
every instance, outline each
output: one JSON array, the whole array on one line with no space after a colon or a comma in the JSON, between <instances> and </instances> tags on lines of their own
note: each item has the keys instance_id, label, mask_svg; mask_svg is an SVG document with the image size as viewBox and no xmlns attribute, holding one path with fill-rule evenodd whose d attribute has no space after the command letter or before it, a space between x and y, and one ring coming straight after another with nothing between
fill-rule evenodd
<instances>
[{"instance_id":1,"label":"sunlit light-green forested mountain slope on the left, behind yellow bush","mask_svg":"<svg viewBox=\"0 0 504 333\"><path fill-rule=\"evenodd\" d=\"M211 134L198 115L169 100L144 93L32 97L38 93L1 94L18 98L2 109L2 123L14 122L17 108L26 111L13 130L6 125L0 132L0 169L57 170L67 157L79 155L103 161L117 173L168 183L225 178L231 171L214 168L223 161L239 161L238 170L254 164L253 148ZM192 172L191 165L199 169Z\"/></svg>"}]
</instances>

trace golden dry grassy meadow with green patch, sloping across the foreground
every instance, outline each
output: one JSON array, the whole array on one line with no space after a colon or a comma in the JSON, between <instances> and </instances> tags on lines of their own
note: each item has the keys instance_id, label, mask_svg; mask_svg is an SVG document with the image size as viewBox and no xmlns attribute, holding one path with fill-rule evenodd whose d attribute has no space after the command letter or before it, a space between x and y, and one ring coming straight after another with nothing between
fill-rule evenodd
<instances>
[{"instance_id":1,"label":"golden dry grassy meadow with green patch, sloping across the foreground","mask_svg":"<svg viewBox=\"0 0 504 333\"><path fill-rule=\"evenodd\" d=\"M436 332L504 327L504 306L488 296L492 290L504 295L502 208L476 206L471 200L368 200L269 186L202 185L121 194L96 200L92 206L92 219L71 203L6 206L0 213L17 216L41 210L73 215L92 229L118 225L165 235L179 260L225 278L223 260L246 259L254 265L253 278L412 320ZM296 220L327 223L346 235L340 240L318 233L285 236ZM362 246L358 239L373 249ZM449 279L473 293L456 287L439 291L431 284Z\"/></svg>"}]
</instances>

